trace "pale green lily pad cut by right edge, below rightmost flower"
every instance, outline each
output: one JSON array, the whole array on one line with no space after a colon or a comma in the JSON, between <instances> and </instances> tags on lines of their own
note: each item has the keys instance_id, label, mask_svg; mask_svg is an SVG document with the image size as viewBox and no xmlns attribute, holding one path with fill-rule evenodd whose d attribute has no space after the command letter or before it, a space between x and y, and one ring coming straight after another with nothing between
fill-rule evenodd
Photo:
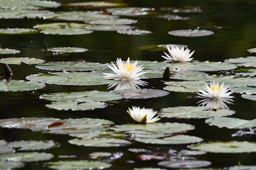
<instances>
[{"instance_id":1,"label":"pale green lily pad cut by right edge, below rightmost flower","mask_svg":"<svg viewBox=\"0 0 256 170\"><path fill-rule=\"evenodd\" d=\"M244 129L256 127L256 119L244 120L233 117L208 118L205 120L205 123L209 124L210 126L218 126L219 128L225 127L228 129Z\"/></svg>"}]
</instances>

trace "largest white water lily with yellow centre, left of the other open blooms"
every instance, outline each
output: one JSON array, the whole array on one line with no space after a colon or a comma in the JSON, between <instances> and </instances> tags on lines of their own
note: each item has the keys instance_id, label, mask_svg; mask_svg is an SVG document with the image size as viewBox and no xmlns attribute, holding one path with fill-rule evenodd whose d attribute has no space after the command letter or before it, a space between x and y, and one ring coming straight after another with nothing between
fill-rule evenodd
<instances>
[{"instance_id":1,"label":"largest white water lily with yellow centre, left of the other open blooms","mask_svg":"<svg viewBox=\"0 0 256 170\"><path fill-rule=\"evenodd\" d=\"M121 58L117 58L116 63L117 66L111 62L113 66L109 66L115 74L104 73L104 77L106 79L114 79L114 80L140 80L142 75L144 75L147 71L142 71L144 67L142 65L137 65L138 61L136 60L134 63L130 63L130 58L127 59L126 63L122 61Z\"/></svg>"}]
</instances>

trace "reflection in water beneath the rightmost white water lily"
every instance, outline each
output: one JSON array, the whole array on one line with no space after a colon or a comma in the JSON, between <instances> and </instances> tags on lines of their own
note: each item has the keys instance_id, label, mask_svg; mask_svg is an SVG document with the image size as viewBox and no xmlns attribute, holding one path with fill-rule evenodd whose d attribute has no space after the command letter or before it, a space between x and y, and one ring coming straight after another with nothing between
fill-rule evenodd
<instances>
[{"instance_id":1,"label":"reflection in water beneath the rightmost white water lily","mask_svg":"<svg viewBox=\"0 0 256 170\"><path fill-rule=\"evenodd\" d=\"M199 101L198 103L199 106L206 106L212 109L229 109L229 107L226 105L227 104L233 104L233 100L232 99L218 99L218 98L206 98L203 99L201 101Z\"/></svg>"}]
</instances>

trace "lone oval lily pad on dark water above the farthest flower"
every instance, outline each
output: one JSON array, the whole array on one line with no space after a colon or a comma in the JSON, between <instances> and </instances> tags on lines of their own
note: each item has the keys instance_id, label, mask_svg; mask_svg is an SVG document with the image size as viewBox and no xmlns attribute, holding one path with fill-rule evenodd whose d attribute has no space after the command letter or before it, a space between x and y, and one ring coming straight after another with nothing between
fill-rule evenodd
<instances>
[{"instance_id":1,"label":"lone oval lily pad on dark water above the farthest flower","mask_svg":"<svg viewBox=\"0 0 256 170\"><path fill-rule=\"evenodd\" d=\"M212 31L207 30L175 30L169 31L169 35L180 36L180 37L200 37L214 34Z\"/></svg>"}]
</instances>

